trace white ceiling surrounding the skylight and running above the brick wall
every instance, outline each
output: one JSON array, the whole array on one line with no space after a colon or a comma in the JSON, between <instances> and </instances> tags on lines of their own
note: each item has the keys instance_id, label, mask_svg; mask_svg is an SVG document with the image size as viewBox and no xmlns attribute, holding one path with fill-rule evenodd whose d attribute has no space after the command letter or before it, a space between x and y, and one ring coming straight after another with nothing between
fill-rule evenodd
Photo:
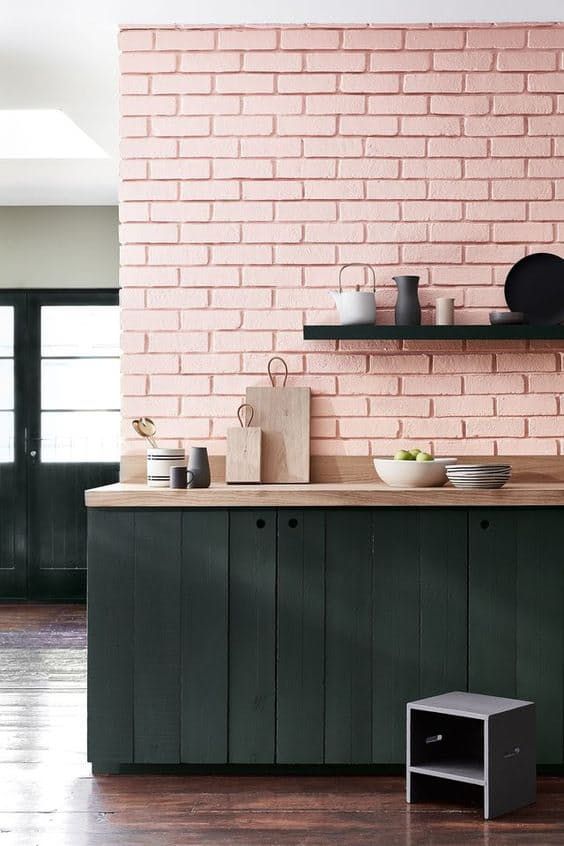
<instances>
[{"instance_id":1,"label":"white ceiling surrounding the skylight and running above the brick wall","mask_svg":"<svg viewBox=\"0 0 564 846\"><path fill-rule=\"evenodd\" d=\"M0 0L0 108L63 109L110 155L0 161L0 205L117 201L120 23L556 21L562 9L562 0Z\"/></svg>"}]
</instances>

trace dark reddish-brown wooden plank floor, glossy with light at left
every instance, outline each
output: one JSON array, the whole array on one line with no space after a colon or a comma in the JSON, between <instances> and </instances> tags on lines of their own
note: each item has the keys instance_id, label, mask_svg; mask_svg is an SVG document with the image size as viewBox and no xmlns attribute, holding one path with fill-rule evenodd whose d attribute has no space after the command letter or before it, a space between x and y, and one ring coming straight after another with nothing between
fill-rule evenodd
<instances>
[{"instance_id":1,"label":"dark reddish-brown wooden plank floor, glossy with light at left","mask_svg":"<svg viewBox=\"0 0 564 846\"><path fill-rule=\"evenodd\" d=\"M564 779L496 822L389 777L106 776L86 763L84 608L0 605L0 846L564 844Z\"/></svg>"}]
</instances>

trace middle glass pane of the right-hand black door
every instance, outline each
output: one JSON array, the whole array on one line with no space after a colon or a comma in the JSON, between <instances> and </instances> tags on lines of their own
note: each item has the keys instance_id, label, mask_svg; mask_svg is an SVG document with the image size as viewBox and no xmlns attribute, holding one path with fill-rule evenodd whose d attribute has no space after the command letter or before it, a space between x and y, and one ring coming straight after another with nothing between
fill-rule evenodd
<instances>
[{"instance_id":1,"label":"middle glass pane of the right-hand black door","mask_svg":"<svg viewBox=\"0 0 564 846\"><path fill-rule=\"evenodd\" d=\"M117 410L119 405L118 358L47 358L41 362L43 409Z\"/></svg>"}]
</instances>

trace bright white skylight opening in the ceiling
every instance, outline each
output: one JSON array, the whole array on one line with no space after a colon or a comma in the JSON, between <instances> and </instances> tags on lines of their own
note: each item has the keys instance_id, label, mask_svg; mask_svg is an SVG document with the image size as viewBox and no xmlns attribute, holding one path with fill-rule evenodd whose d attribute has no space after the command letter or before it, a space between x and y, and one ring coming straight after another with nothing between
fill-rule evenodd
<instances>
[{"instance_id":1,"label":"bright white skylight opening in the ceiling","mask_svg":"<svg viewBox=\"0 0 564 846\"><path fill-rule=\"evenodd\" d=\"M0 159L106 159L60 109L0 109Z\"/></svg>"}]
</instances>

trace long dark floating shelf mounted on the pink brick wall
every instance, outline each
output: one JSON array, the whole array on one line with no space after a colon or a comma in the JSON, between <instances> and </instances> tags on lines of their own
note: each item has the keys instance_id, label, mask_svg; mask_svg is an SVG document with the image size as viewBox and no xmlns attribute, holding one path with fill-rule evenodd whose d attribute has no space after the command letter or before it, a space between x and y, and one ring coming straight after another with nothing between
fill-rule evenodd
<instances>
[{"instance_id":1,"label":"long dark floating shelf mounted on the pink brick wall","mask_svg":"<svg viewBox=\"0 0 564 846\"><path fill-rule=\"evenodd\" d=\"M564 326L304 326L306 341L564 341Z\"/></svg>"}]
</instances>

